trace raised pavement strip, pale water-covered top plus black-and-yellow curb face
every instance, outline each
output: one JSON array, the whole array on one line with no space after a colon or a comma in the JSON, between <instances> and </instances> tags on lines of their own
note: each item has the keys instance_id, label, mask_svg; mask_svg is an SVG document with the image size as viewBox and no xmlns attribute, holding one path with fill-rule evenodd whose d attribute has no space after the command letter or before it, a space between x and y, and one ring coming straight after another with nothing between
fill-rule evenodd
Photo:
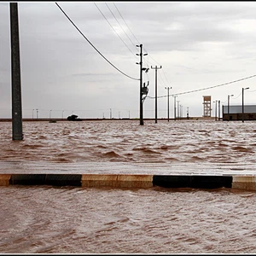
<instances>
[{"instance_id":1,"label":"raised pavement strip, pale water-covered top plus black-and-yellow curb face","mask_svg":"<svg viewBox=\"0 0 256 256\"><path fill-rule=\"evenodd\" d=\"M2 161L0 185L256 190L256 165Z\"/></svg>"}]
</instances>

